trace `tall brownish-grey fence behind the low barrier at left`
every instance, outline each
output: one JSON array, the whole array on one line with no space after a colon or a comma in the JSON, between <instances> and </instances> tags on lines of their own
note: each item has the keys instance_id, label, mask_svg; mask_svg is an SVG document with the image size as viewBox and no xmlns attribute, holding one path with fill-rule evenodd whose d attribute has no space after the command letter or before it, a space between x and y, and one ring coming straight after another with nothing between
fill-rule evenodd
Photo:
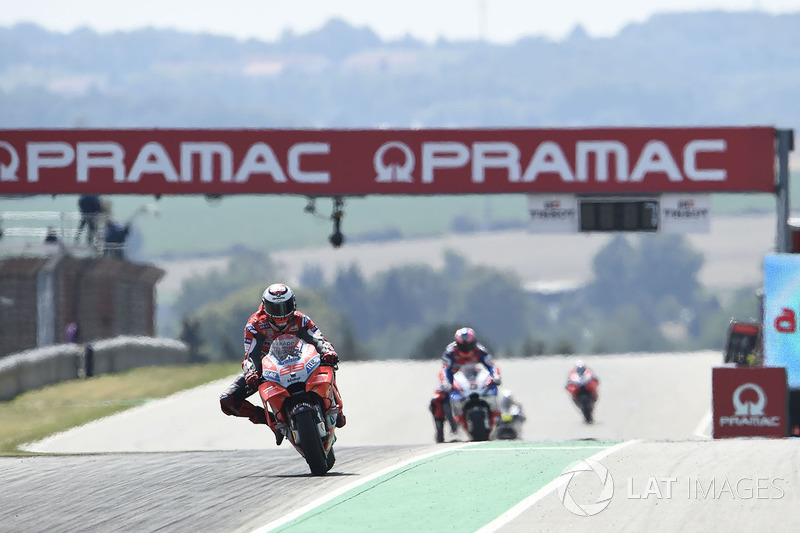
<instances>
[{"instance_id":1,"label":"tall brownish-grey fence behind the low barrier at left","mask_svg":"<svg viewBox=\"0 0 800 533\"><path fill-rule=\"evenodd\" d=\"M0 258L0 356L63 342L155 335L155 286L164 271L111 258Z\"/></svg>"}]
</instances>

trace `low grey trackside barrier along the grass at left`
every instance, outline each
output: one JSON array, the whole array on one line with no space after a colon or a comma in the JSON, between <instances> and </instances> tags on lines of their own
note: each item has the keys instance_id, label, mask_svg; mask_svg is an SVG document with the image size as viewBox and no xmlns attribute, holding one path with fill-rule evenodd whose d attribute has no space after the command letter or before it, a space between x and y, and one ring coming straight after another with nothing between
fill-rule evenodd
<instances>
[{"instance_id":1,"label":"low grey trackside barrier along the grass at left","mask_svg":"<svg viewBox=\"0 0 800 533\"><path fill-rule=\"evenodd\" d=\"M142 366L189 362L189 346L174 339L116 337L94 341L91 348L93 357L88 369L82 344L58 344L1 358L0 401L85 375L114 374Z\"/></svg>"}]
</instances>

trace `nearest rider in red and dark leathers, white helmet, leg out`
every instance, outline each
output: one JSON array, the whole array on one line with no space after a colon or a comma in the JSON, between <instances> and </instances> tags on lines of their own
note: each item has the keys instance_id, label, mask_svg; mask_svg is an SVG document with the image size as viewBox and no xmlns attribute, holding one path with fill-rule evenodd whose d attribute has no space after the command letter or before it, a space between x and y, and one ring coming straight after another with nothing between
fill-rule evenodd
<instances>
[{"instance_id":1,"label":"nearest rider in red and dark leathers, white helmet, leg out","mask_svg":"<svg viewBox=\"0 0 800 533\"><path fill-rule=\"evenodd\" d=\"M275 443L283 442L283 433L275 428L276 420L271 413L247 401L258 390L262 379L261 356L277 337L292 334L313 345L320 354L322 362L335 365L339 356L333 345L307 315L296 308L292 289L283 283L267 287L261 296L261 305L253 313L244 327L244 361L239 375L219 397L220 407L226 415L249 418L253 424L267 424L275 434ZM336 381L334 379L334 388ZM338 395L338 389L337 389ZM347 419L340 412L336 427L343 427Z\"/></svg>"}]
</instances>

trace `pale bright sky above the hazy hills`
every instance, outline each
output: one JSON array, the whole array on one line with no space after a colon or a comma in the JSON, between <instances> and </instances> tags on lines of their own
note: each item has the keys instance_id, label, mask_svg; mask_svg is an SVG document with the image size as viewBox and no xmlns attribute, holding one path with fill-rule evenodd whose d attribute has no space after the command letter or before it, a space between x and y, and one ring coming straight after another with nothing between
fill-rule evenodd
<instances>
[{"instance_id":1,"label":"pale bright sky above the hazy hills","mask_svg":"<svg viewBox=\"0 0 800 533\"><path fill-rule=\"evenodd\" d=\"M0 0L0 26L36 22L64 32L153 26L273 41L336 17L384 39L410 34L429 42L483 37L502 43L523 35L559 40L577 24L593 37L612 36L653 13L754 9L800 12L800 0Z\"/></svg>"}]
</instances>

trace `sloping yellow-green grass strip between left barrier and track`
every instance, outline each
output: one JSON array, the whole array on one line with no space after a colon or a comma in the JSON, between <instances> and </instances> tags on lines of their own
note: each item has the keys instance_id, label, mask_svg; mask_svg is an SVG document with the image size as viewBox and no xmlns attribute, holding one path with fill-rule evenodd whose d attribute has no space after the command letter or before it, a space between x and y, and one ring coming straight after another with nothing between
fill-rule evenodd
<instances>
[{"instance_id":1,"label":"sloping yellow-green grass strip between left barrier and track","mask_svg":"<svg viewBox=\"0 0 800 533\"><path fill-rule=\"evenodd\" d=\"M175 392L232 376L237 363L137 368L28 391L0 402L0 454Z\"/></svg>"}]
</instances>

